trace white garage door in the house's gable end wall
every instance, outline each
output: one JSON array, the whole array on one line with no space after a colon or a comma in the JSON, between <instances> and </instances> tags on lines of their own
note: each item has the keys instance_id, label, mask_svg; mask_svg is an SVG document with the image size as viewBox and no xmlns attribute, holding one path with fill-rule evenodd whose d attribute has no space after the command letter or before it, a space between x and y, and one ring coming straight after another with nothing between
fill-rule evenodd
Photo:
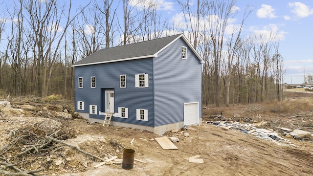
<instances>
[{"instance_id":1,"label":"white garage door in the house's gable end wall","mask_svg":"<svg viewBox=\"0 0 313 176\"><path fill-rule=\"evenodd\" d=\"M184 103L184 125L199 124L199 102Z\"/></svg>"}]
</instances>

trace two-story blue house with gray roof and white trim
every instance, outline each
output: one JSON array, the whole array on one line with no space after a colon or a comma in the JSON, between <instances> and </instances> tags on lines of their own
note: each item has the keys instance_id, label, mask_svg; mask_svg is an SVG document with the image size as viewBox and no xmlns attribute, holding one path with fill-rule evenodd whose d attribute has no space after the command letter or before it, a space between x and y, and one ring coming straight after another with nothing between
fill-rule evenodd
<instances>
[{"instance_id":1,"label":"two-story blue house with gray roof and white trim","mask_svg":"<svg viewBox=\"0 0 313 176\"><path fill-rule=\"evenodd\" d=\"M183 34L101 49L73 64L75 110L156 134L200 124L202 63Z\"/></svg>"}]
</instances>

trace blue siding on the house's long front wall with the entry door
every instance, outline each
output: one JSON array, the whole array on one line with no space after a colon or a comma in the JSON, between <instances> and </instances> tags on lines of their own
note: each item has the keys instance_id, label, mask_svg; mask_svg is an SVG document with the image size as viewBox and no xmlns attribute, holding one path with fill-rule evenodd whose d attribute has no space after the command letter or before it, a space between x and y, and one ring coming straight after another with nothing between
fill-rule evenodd
<instances>
[{"instance_id":1,"label":"blue siding on the house's long front wall with the entry door","mask_svg":"<svg viewBox=\"0 0 313 176\"><path fill-rule=\"evenodd\" d=\"M141 73L149 74L149 88L135 88L135 74ZM120 88L121 74L126 75L126 88ZM96 88L90 88L91 76L96 77ZM78 88L79 77L83 77L83 88ZM118 112L118 107L128 108L128 119L113 117L112 121L154 125L153 58L75 67L75 110L77 101L85 102L85 110L78 112L89 113L89 105L97 105L98 115L89 116L104 119L99 111L105 111L105 90L114 90L114 112ZM136 120L136 109L148 110L148 121Z\"/></svg>"}]
</instances>

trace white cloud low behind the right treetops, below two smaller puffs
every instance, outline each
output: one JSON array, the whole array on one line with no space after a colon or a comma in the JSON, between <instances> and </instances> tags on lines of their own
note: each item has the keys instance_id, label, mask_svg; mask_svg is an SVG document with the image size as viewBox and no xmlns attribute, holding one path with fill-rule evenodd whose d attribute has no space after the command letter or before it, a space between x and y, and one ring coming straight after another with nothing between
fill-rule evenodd
<instances>
[{"instance_id":1,"label":"white cloud low behind the right treetops, below two smaller puffs","mask_svg":"<svg viewBox=\"0 0 313 176\"><path fill-rule=\"evenodd\" d=\"M252 31L256 37L262 37L262 41L285 40L285 35L288 33L280 31L277 24L268 24L261 29L256 26L251 26L250 31ZM261 40L261 38L259 38L259 40Z\"/></svg>"}]
</instances>

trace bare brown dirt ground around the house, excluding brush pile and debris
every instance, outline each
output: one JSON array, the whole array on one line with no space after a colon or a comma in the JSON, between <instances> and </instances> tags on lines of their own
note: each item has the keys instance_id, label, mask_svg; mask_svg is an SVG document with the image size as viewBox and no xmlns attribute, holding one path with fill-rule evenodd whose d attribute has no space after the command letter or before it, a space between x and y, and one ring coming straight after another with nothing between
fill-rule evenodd
<instances>
[{"instance_id":1,"label":"bare brown dirt ground around the house, excluding brush pile and debris","mask_svg":"<svg viewBox=\"0 0 313 176\"><path fill-rule=\"evenodd\" d=\"M310 95L311 96L311 95ZM307 97L307 96L306 96ZM285 101L295 101L301 96L288 97ZM306 99L311 105L312 99ZM14 105L14 103L12 103ZM101 161L87 156L68 146L59 145L55 151L43 154L29 154L29 162L24 162L24 168L35 170L44 168L38 174L47 176L312 176L313 175L313 142L311 140L296 140L288 138L292 146L286 143L274 143L257 136L240 132L239 130L223 130L214 125L206 124L214 121L216 115L234 121L243 120L251 123L253 120L268 122L259 128L274 129L275 127L301 128L313 133L313 117L291 118L296 114L308 112L282 113L270 109L270 104L233 105L231 107L215 108L208 106L203 110L203 123L200 126L190 126L183 132L166 132L163 136L176 136L179 142L174 144L177 150L163 150L154 140L161 137L152 132L122 127L103 127L102 124L90 123L85 119L49 118L38 115L38 111L8 112L0 110L0 147L3 148L10 139L14 129L29 128L40 124L49 128L67 127L76 135L64 140L68 144L77 145L81 150L104 158L108 155L122 158L123 149L134 149L135 158L146 163L134 162L134 168L125 170L112 165L103 165L95 169L93 166ZM14 107L14 106L13 106ZM44 105L36 108L42 109ZM18 108L18 105L15 107ZM62 110L62 107L59 107ZM49 110L49 108L48 108ZM56 108L53 110L57 110ZM52 111L52 110L50 110ZM234 118L237 113L241 117ZM262 115L260 115L262 113ZM258 118L258 119L257 119ZM261 119L260 119L261 118ZM185 137L184 132L189 136ZM281 130L276 131L283 136ZM131 145L131 141L133 145ZM11 155L14 155L12 152ZM8 157L10 154L2 153ZM190 163L184 159L201 155L204 163ZM2 166L3 169L3 166ZM5 169L5 168L4 168Z\"/></svg>"}]
</instances>

